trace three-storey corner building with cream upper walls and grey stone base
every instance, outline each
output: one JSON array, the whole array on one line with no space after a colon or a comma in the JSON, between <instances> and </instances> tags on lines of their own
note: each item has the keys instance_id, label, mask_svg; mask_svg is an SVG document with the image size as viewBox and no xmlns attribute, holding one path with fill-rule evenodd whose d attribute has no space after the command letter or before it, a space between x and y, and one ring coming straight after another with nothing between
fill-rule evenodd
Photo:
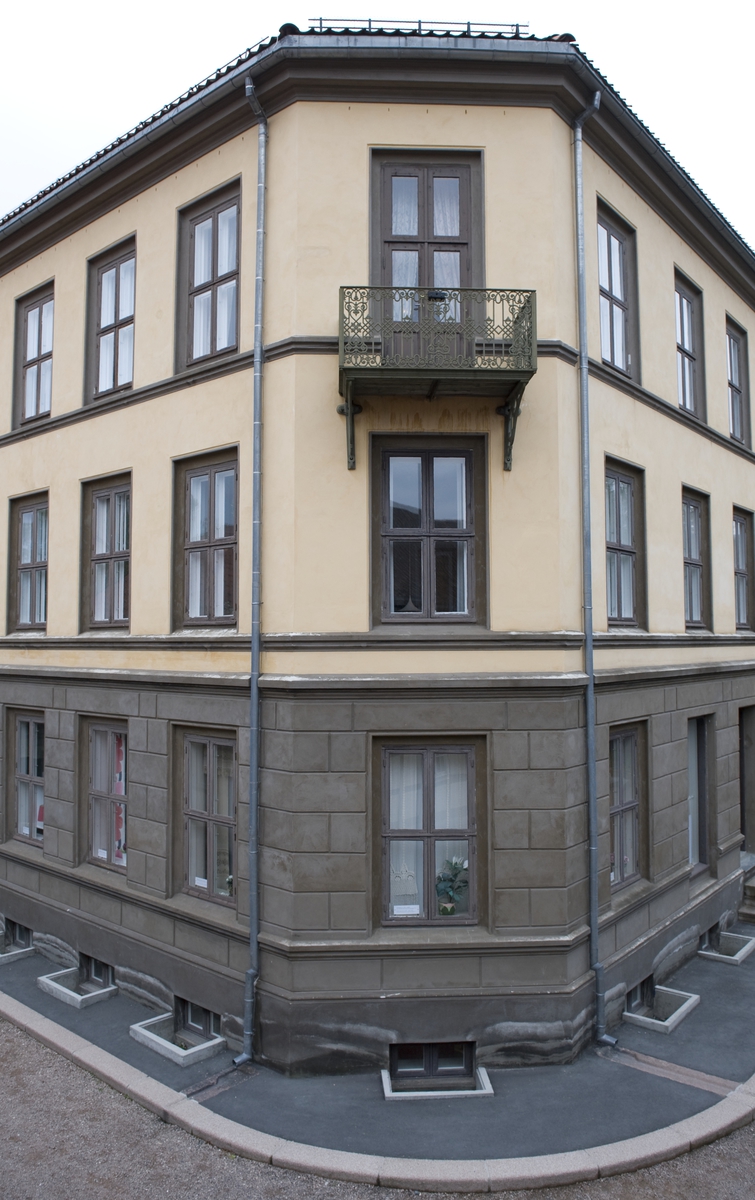
<instances>
[{"instance_id":1,"label":"three-storey corner building with cream upper walls and grey stone base","mask_svg":"<svg viewBox=\"0 0 755 1200\"><path fill-rule=\"evenodd\" d=\"M4 220L0 312L8 938L240 1042L254 368L256 1054L568 1061L591 928L611 1027L732 919L755 257L568 35L283 26Z\"/></svg>"}]
</instances>

